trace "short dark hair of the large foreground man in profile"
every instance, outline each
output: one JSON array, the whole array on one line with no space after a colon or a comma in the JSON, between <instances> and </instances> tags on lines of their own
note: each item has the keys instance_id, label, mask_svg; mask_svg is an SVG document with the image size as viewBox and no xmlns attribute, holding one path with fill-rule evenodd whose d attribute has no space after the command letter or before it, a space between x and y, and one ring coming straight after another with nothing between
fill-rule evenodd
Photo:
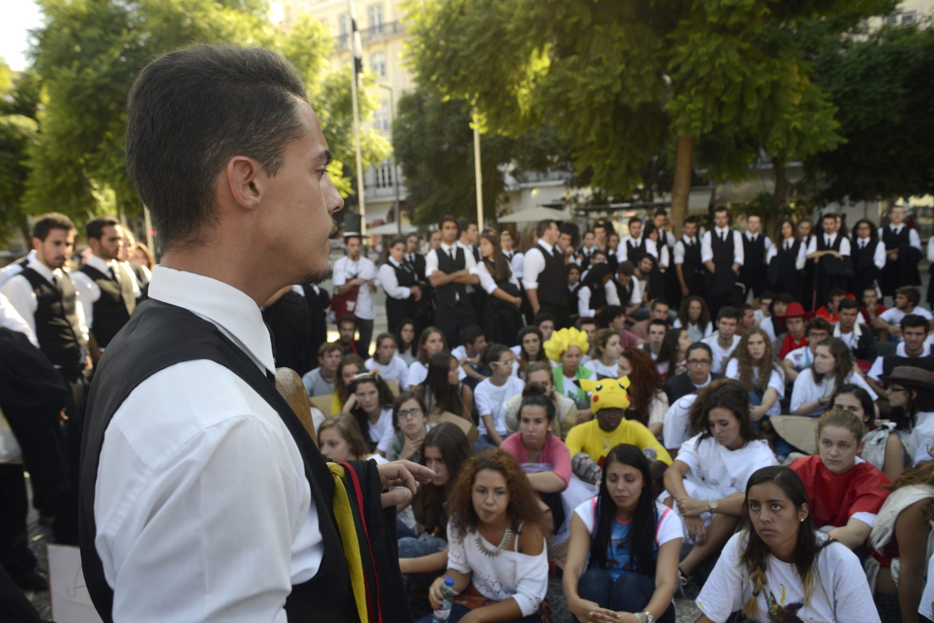
<instances>
[{"instance_id":1,"label":"short dark hair of the large foreground man in profile","mask_svg":"<svg viewBox=\"0 0 934 623\"><path fill-rule=\"evenodd\" d=\"M196 45L164 54L134 82L126 163L163 251L191 244L217 221L214 180L236 155L275 176L306 129L304 81L262 48Z\"/></svg>"}]
</instances>

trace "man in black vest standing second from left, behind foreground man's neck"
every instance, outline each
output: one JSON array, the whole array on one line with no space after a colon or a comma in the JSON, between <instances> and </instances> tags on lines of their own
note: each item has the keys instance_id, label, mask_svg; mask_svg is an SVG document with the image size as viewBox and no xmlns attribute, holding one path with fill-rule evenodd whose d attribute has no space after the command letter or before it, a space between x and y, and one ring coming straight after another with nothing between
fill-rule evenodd
<instances>
[{"instance_id":1,"label":"man in black vest standing second from left, behind foreground man's neck","mask_svg":"<svg viewBox=\"0 0 934 623\"><path fill-rule=\"evenodd\" d=\"M123 247L120 223L116 219L91 219L84 232L91 255L72 279L81 293L84 319L91 331L91 358L96 363L114 335L129 322L139 288L119 261Z\"/></svg>"}]
</instances>

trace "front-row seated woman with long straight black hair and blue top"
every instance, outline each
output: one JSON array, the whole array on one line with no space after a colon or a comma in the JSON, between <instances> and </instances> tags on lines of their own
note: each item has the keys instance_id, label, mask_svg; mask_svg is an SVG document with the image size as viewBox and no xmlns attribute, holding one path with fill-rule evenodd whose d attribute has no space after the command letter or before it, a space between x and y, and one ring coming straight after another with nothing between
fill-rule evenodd
<instances>
[{"instance_id":1,"label":"front-row seated woman with long straight black hair and blue top","mask_svg":"<svg viewBox=\"0 0 934 623\"><path fill-rule=\"evenodd\" d=\"M600 494L574 509L564 564L564 596L580 621L674 623L672 597L683 531L670 508L655 500L648 460L620 444L603 464Z\"/></svg>"}]
</instances>

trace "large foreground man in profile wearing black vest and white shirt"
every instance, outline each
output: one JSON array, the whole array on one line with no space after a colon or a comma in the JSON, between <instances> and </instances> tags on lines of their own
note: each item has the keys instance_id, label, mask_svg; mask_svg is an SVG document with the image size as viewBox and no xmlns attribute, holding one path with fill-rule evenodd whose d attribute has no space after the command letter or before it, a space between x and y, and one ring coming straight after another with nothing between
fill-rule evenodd
<instances>
[{"instance_id":1,"label":"large foreground man in profile wearing black vest and white shirt","mask_svg":"<svg viewBox=\"0 0 934 623\"><path fill-rule=\"evenodd\" d=\"M432 471L347 463L372 547L347 559L341 534L361 526L333 515L345 481L271 382L260 305L327 275L343 205L302 77L268 50L169 52L130 92L126 159L163 255L89 398L81 560L98 614L352 621L372 605L411 621L394 507ZM379 599L355 596L351 567Z\"/></svg>"}]
</instances>

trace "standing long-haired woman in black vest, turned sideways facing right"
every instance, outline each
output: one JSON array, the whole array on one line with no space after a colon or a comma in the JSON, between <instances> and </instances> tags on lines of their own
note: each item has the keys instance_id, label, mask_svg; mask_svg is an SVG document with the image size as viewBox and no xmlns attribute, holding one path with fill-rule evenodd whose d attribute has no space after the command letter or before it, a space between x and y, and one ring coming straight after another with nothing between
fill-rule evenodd
<instances>
[{"instance_id":1,"label":"standing long-haired woman in black vest, turned sideways facing right","mask_svg":"<svg viewBox=\"0 0 934 623\"><path fill-rule=\"evenodd\" d=\"M480 262L474 272L480 277L480 287L488 294L483 311L483 330L491 343L517 345L517 333L522 327L521 290L509 262L502 255L495 235L480 236Z\"/></svg>"}]
</instances>

